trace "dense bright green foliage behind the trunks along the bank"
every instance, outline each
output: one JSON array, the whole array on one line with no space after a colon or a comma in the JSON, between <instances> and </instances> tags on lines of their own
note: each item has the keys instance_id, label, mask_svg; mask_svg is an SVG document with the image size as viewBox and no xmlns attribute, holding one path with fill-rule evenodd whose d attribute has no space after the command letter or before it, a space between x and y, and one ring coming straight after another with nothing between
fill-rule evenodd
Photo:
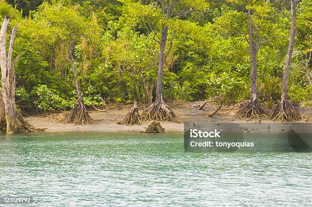
<instances>
[{"instance_id":1,"label":"dense bright green foliage behind the trunks along the bank","mask_svg":"<svg viewBox=\"0 0 312 207\"><path fill-rule=\"evenodd\" d=\"M70 44L86 105L100 105L100 97L148 103L151 95L155 97L158 70L159 45L153 37L160 37L156 31L165 21L152 2L2 0L1 19L14 17L20 24L14 48L15 57L23 53L15 66L18 105L42 110L73 105L73 71L66 60ZM221 97L233 103L249 97L246 1L206 2L185 1L196 9L166 22L168 40L173 40L165 64L166 100ZM289 96L295 102L312 100L312 86L300 63L311 51L311 8L311 1L303 0L297 9L289 81ZM258 96L277 101L290 31L289 3L257 1L251 9L263 42L257 54Z\"/></svg>"}]
</instances>

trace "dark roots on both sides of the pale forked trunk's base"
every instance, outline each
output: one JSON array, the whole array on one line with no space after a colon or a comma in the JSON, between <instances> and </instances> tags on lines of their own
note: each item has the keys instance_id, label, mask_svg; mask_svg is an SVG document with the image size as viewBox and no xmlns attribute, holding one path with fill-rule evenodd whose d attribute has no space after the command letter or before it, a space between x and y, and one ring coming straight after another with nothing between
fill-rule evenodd
<instances>
[{"instance_id":1,"label":"dark roots on both sides of the pale forked trunk's base","mask_svg":"<svg viewBox=\"0 0 312 207\"><path fill-rule=\"evenodd\" d=\"M20 113L17 113L18 119L18 129L17 133L27 133L27 132L42 132L44 129L39 129L34 127L28 121L24 120L23 116ZM7 131L7 121L5 117L0 118L0 133L6 133Z\"/></svg>"}]
</instances>

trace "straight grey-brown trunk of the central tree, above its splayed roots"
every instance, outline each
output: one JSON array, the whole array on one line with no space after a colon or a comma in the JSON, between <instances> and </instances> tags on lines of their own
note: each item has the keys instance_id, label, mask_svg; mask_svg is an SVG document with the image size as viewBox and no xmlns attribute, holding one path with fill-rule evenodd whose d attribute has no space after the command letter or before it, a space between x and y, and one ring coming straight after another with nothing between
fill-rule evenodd
<instances>
[{"instance_id":1,"label":"straight grey-brown trunk of the central tree, above its splayed roots","mask_svg":"<svg viewBox=\"0 0 312 207\"><path fill-rule=\"evenodd\" d=\"M168 36L168 27L162 26L162 34L160 40L160 51L158 54L158 74L157 74L157 88L156 88L156 100L160 101L162 99L162 91L163 91L163 73L164 73L164 65L165 65L165 49L167 43Z\"/></svg>"}]
</instances>

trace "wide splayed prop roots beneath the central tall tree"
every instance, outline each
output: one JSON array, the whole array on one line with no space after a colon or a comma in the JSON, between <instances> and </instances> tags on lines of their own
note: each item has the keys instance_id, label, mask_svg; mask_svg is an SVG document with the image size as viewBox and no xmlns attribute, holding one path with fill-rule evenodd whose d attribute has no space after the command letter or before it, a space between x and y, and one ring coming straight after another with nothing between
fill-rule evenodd
<instances>
[{"instance_id":1,"label":"wide splayed prop roots beneath the central tall tree","mask_svg":"<svg viewBox=\"0 0 312 207\"><path fill-rule=\"evenodd\" d=\"M155 101L142 112L141 116L144 121L179 122L176 120L175 113L165 104L163 99Z\"/></svg>"}]
</instances>

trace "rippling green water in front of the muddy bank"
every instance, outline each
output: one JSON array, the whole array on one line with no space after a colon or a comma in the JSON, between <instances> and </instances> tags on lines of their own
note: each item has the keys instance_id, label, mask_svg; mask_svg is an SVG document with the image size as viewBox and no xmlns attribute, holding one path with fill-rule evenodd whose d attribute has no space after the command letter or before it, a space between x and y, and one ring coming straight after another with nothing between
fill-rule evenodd
<instances>
[{"instance_id":1,"label":"rippling green water in front of the muddy bank","mask_svg":"<svg viewBox=\"0 0 312 207\"><path fill-rule=\"evenodd\" d=\"M33 196L32 206L312 204L310 153L204 154L183 147L183 134L2 136L0 196Z\"/></svg>"}]
</instances>

